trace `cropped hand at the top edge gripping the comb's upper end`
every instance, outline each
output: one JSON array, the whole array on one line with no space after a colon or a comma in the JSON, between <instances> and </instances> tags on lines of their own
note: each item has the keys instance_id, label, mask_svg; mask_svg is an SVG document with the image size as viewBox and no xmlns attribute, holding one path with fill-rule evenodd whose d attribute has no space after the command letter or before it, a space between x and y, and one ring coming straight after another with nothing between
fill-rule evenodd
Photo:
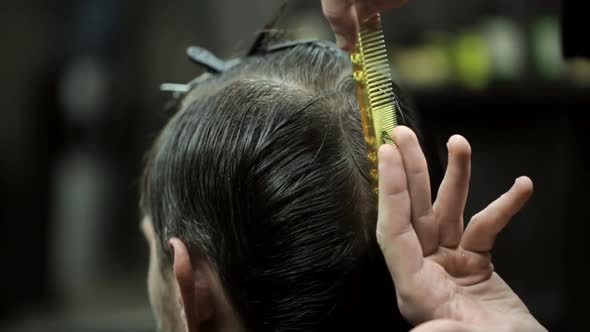
<instances>
[{"instance_id":1,"label":"cropped hand at the top edge gripping the comb's upper end","mask_svg":"<svg viewBox=\"0 0 590 332\"><path fill-rule=\"evenodd\" d=\"M358 23L406 0L322 0L324 16L332 26L338 47L349 51L356 44Z\"/></svg>"}]
</instances>

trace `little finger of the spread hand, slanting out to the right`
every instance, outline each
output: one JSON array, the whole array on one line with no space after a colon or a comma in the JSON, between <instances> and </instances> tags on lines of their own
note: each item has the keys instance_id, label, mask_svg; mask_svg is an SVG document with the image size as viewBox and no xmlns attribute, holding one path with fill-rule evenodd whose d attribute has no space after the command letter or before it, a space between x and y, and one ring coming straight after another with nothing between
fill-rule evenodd
<instances>
[{"instance_id":1,"label":"little finger of the spread hand, slanting out to the right","mask_svg":"<svg viewBox=\"0 0 590 332\"><path fill-rule=\"evenodd\" d=\"M475 252L492 250L496 236L524 206L533 193L533 182L519 177L505 194L471 218L461 240L461 247Z\"/></svg>"}]
</instances>

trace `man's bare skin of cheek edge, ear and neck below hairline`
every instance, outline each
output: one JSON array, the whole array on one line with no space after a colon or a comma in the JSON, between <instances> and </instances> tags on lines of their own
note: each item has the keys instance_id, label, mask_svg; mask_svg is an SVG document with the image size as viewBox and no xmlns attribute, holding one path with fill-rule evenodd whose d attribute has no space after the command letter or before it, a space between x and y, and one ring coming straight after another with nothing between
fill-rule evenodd
<instances>
[{"instance_id":1,"label":"man's bare skin of cheek edge, ear and neck below hairline","mask_svg":"<svg viewBox=\"0 0 590 332\"><path fill-rule=\"evenodd\" d=\"M241 331L239 317L209 261L198 252L189 253L187 246L173 237L168 241L172 264L163 268L149 217L142 220L141 230L150 249L147 284L158 331Z\"/></svg>"}]
</instances>

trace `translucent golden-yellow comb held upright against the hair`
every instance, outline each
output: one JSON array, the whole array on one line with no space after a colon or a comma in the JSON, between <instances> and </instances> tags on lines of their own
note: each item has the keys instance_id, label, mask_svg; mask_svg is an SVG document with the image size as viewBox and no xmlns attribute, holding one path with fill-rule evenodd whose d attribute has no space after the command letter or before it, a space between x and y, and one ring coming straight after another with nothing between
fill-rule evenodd
<instances>
[{"instance_id":1,"label":"translucent golden-yellow comb held upright against the hair","mask_svg":"<svg viewBox=\"0 0 590 332\"><path fill-rule=\"evenodd\" d=\"M373 190L378 192L377 151L381 144L394 144L392 134L397 126L389 59L379 17L361 25L358 41L351 51L350 58L371 164L370 174L374 180Z\"/></svg>"}]
</instances>

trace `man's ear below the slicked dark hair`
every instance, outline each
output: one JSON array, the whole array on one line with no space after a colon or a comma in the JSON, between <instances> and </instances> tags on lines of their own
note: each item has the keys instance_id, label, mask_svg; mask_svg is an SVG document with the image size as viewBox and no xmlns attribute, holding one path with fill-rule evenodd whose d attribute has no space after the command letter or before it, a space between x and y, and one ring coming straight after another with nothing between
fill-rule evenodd
<instances>
[{"instance_id":1,"label":"man's ear below the slicked dark hair","mask_svg":"<svg viewBox=\"0 0 590 332\"><path fill-rule=\"evenodd\" d=\"M203 257L191 259L180 239L172 238L168 244L186 326L189 332L202 331L205 325L211 325L216 309L212 269Z\"/></svg>"}]
</instances>

